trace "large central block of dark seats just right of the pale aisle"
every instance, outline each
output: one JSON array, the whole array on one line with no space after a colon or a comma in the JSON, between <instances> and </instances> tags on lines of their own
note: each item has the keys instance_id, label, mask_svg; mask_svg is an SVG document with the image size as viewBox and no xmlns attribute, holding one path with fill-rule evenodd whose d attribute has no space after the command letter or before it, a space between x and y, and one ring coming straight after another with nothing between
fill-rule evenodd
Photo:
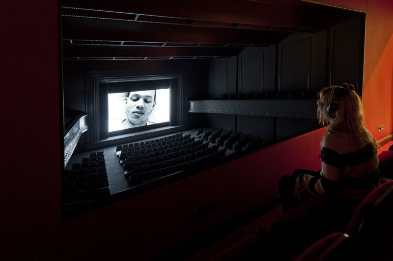
<instances>
[{"instance_id":1,"label":"large central block of dark seats just right of the pale aisle","mask_svg":"<svg viewBox=\"0 0 393 261\"><path fill-rule=\"evenodd\" d=\"M116 146L130 187L225 156L219 145L209 147L209 142L182 134Z\"/></svg>"}]
</instances>

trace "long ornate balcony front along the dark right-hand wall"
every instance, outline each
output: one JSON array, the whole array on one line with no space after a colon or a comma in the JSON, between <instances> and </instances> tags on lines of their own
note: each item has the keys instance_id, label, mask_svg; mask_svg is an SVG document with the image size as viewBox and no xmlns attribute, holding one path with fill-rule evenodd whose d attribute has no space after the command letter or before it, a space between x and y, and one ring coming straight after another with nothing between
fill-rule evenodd
<instances>
[{"instance_id":1,"label":"long ornate balcony front along the dark right-hand wall","mask_svg":"<svg viewBox=\"0 0 393 261\"><path fill-rule=\"evenodd\" d=\"M198 100L189 101L188 112L316 119L315 101L314 99Z\"/></svg>"}]
</instances>

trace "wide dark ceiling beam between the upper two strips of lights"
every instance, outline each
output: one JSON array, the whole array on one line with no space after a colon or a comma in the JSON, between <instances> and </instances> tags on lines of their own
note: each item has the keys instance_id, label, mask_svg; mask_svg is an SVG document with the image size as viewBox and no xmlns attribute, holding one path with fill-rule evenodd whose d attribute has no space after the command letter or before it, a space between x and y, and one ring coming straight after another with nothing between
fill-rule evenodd
<instances>
[{"instance_id":1,"label":"wide dark ceiling beam between the upper two strips of lights","mask_svg":"<svg viewBox=\"0 0 393 261\"><path fill-rule=\"evenodd\" d=\"M195 44L275 44L286 33L63 17L63 39Z\"/></svg>"}]
</instances>

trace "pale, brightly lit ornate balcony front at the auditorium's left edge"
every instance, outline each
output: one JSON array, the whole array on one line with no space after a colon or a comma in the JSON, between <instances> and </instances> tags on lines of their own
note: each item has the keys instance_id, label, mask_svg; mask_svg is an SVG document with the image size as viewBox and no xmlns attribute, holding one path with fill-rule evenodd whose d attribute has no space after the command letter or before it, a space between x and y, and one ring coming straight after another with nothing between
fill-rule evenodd
<instances>
[{"instance_id":1,"label":"pale, brightly lit ornate balcony front at the auditorium's left edge","mask_svg":"<svg viewBox=\"0 0 393 261\"><path fill-rule=\"evenodd\" d=\"M64 136L64 166L67 166L82 133L88 130L88 126L86 125L86 116L87 115L82 116Z\"/></svg>"}]
</instances>

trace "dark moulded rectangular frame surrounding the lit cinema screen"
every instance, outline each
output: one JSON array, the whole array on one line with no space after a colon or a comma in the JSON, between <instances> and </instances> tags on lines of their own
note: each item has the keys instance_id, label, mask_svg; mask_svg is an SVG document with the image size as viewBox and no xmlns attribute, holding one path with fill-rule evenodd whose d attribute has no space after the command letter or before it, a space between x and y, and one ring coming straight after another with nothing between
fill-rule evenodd
<instances>
[{"instance_id":1,"label":"dark moulded rectangular frame surrounding the lit cinema screen","mask_svg":"<svg viewBox=\"0 0 393 261\"><path fill-rule=\"evenodd\" d=\"M150 72L150 73L149 73ZM149 74L148 74L149 73ZM170 115L169 126L179 126L187 124L187 88L185 88L188 81L187 68L169 68L169 69L136 69L131 71L86 71L86 103L85 111L88 113L87 124L89 130L85 133L85 144L92 142L99 142L106 139L116 139L118 135L121 138L123 135L116 133L116 136L109 137L108 130L102 129L103 125L108 125L108 116L104 119L102 108L108 113L108 91L105 89L103 83L115 82L129 82L129 81L149 81L149 80L175 80L170 86ZM174 83L175 82L175 83ZM101 85L101 88L100 88ZM104 95L105 94L105 98ZM105 111L104 110L104 111ZM106 122L105 122L106 121ZM102 122L105 122L104 124ZM154 125L137 127L138 132L143 131L143 127L159 128L162 127L157 123ZM153 126L153 127L150 127ZM108 128L108 126L107 126ZM134 129L134 128L132 128ZM130 130L130 129L128 129ZM132 132L126 135L132 135Z\"/></svg>"}]
</instances>

